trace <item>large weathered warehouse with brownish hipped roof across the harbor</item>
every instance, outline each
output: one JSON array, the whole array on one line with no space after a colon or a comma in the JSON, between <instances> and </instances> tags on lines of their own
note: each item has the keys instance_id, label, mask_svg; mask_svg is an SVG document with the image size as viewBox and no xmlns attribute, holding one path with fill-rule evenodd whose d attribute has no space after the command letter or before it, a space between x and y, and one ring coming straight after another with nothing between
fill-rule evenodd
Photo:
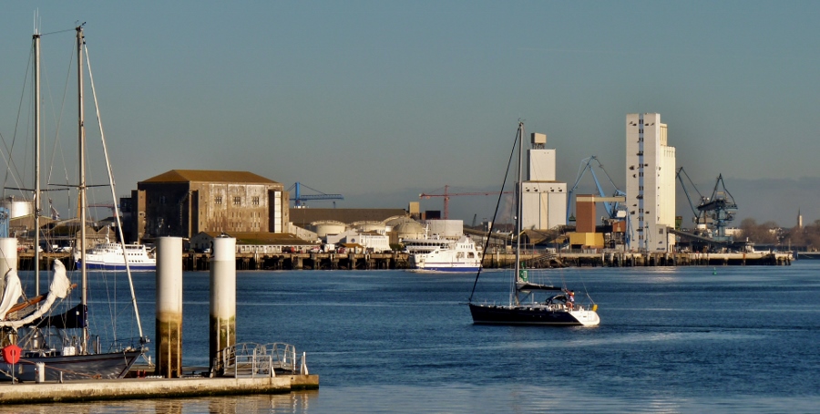
<instances>
[{"instance_id":1,"label":"large weathered warehouse with brownish hipped roof across the harbor","mask_svg":"<svg viewBox=\"0 0 820 414\"><path fill-rule=\"evenodd\" d=\"M283 233L288 197L282 183L247 171L171 170L139 181L131 191L128 239Z\"/></svg>"}]
</instances>

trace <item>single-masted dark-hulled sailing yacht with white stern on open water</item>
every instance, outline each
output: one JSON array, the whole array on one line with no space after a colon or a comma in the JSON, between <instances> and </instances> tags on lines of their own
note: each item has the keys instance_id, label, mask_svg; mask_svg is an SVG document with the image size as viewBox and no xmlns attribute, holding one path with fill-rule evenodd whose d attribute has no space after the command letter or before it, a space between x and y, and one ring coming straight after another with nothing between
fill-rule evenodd
<instances>
[{"instance_id":1,"label":"single-masted dark-hulled sailing yacht with white stern on open water","mask_svg":"<svg viewBox=\"0 0 820 414\"><path fill-rule=\"evenodd\" d=\"M541 325L541 326L597 326L600 324L598 316L598 305L591 302L589 295L586 297L589 302L576 303L575 292L569 290L566 286L555 286L538 284L534 282L534 278L530 274L532 269L527 269L521 262L521 237L524 233L521 225L521 217L523 214L522 208L522 165L523 165L523 142L524 140L524 123L518 122L518 131L516 132L516 143L513 146L513 151L510 153L510 164L515 159L514 154L518 148L518 163L517 163L517 179L516 179L516 259L514 266L514 273L511 276L509 302L504 305L497 305L495 303L477 303L474 302L473 297L476 293L476 286L478 278L481 275L481 269L476 274L476 281L473 283L473 290L468 301L470 308L470 315L473 317L474 324L480 325ZM507 168L507 171L509 168ZM507 177L503 186L507 184ZM501 198L498 198L498 205L500 205ZM496 207L496 213L498 208ZM496 217L493 222L496 223ZM492 227L489 234L493 233ZM488 250L488 243L490 237L487 237L487 245L485 245L484 252ZM483 261L483 260L482 260Z\"/></svg>"}]
</instances>

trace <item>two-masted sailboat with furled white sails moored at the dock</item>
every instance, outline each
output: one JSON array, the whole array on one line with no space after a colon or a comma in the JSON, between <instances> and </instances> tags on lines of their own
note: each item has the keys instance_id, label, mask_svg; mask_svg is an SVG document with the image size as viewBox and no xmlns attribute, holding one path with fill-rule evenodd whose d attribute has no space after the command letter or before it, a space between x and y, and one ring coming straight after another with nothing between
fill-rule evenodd
<instances>
[{"instance_id":1,"label":"two-masted sailboat with furled white sails moored at the dock","mask_svg":"<svg viewBox=\"0 0 820 414\"><path fill-rule=\"evenodd\" d=\"M39 40L40 35L34 36L34 57L35 57L35 98L39 98ZM79 136L79 183L77 184L78 202L80 205L80 245L81 255L86 246L86 178L85 178L85 121L83 116L83 55L85 49L85 37L82 26L77 26L77 79L78 79L78 136ZM89 67L90 72L90 67ZM93 78L92 78L93 79ZM91 83L93 90L93 80ZM35 105L36 119L38 119L39 103ZM97 118L99 113L97 111ZM38 121L37 121L38 122ZM102 135L102 128L100 128ZM35 193L35 229L39 229L39 128L36 128L36 185ZM105 150L105 138L103 149ZM106 162L108 164L108 152L106 150ZM116 193L113 188L113 177L108 166L108 185L112 196ZM115 203L115 218L118 221L120 240L123 240L122 225L119 223L119 212ZM36 238L39 236L37 233ZM36 244L37 245L37 244ZM124 250L124 249L123 249ZM128 274L128 285L130 287L130 299L134 307L134 316L138 326L138 340L135 344L119 344L115 337L115 344L112 344L106 351L103 351L99 337L92 340L88 330L88 283L87 267L85 261L79 269L81 276L80 291L81 299L79 305L68 308L64 313L52 315L56 309L56 302L65 299L77 284L71 284L67 278L67 271L64 264L59 260L54 262L54 273L49 290L45 295L39 295L39 271L37 264L39 257L35 248L35 285L36 294L31 299L23 302L18 300L23 296L22 285L16 274L15 265L9 264L11 269L5 274L4 289L0 296L0 347L15 347L17 361L4 361L0 365L0 380L22 380L37 381L44 380L71 380L71 379L112 379L123 378L128 374L130 367L146 352L145 344L148 339L142 335L142 326L139 321L136 296L134 286L131 281L130 270L126 266ZM7 259L6 259L7 260ZM69 305L70 306L70 305ZM5 357L5 352L4 356ZM9 354L12 355L12 354ZM16 357L15 357L16 359ZM14 365L9 362L15 362ZM3 369L3 367L8 367Z\"/></svg>"}]
</instances>

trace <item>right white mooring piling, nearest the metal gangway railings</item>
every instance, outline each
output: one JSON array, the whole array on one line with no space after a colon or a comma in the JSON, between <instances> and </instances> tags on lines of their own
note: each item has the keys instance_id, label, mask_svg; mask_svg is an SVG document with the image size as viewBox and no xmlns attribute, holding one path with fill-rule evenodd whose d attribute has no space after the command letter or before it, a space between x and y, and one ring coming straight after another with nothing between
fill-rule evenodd
<instances>
[{"instance_id":1,"label":"right white mooring piling, nearest the metal gangway railings","mask_svg":"<svg viewBox=\"0 0 820 414\"><path fill-rule=\"evenodd\" d=\"M210 367L221 349L236 344L236 239L213 239L210 258Z\"/></svg>"}]
</instances>

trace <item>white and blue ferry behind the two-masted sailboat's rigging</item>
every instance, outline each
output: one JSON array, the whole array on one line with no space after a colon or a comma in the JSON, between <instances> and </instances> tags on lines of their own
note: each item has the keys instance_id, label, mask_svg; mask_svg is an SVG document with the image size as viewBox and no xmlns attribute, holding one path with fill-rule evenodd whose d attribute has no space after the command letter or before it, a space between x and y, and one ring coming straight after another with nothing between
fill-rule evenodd
<instances>
[{"instance_id":1,"label":"white and blue ferry behind the two-masted sailboat's rigging","mask_svg":"<svg viewBox=\"0 0 820 414\"><path fill-rule=\"evenodd\" d=\"M125 255L122 246L125 245ZM97 243L86 251L86 268L97 270L126 270L125 260L128 257L128 267L132 272L149 272L157 270L157 258L149 252L145 244ZM77 268L82 266L79 252L74 257Z\"/></svg>"}]
</instances>

